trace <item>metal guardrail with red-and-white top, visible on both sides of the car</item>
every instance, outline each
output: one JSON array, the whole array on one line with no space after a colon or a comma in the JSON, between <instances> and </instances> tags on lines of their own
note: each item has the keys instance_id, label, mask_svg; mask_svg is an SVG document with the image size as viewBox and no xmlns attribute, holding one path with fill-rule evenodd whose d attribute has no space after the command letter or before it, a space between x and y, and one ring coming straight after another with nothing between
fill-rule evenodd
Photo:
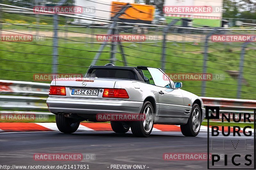
<instances>
[{"instance_id":1,"label":"metal guardrail with red-and-white top, visible on both sides of the car","mask_svg":"<svg viewBox=\"0 0 256 170\"><path fill-rule=\"evenodd\" d=\"M50 84L47 83L0 80L0 108L4 110L47 111L46 98L48 96L49 86ZM256 100L214 97L201 98L203 99L204 106L256 108ZM232 110L222 111L237 113L237 111ZM244 111L244 113L247 112ZM49 114L49 112L45 112L45 114Z\"/></svg>"}]
</instances>

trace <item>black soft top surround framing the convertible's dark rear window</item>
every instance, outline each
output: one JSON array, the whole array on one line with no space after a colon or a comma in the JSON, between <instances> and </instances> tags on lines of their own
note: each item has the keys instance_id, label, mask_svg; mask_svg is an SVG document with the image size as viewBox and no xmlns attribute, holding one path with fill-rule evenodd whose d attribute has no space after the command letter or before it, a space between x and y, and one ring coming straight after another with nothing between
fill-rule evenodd
<instances>
[{"instance_id":1,"label":"black soft top surround framing the convertible's dark rear window","mask_svg":"<svg viewBox=\"0 0 256 170\"><path fill-rule=\"evenodd\" d=\"M144 82L144 79L134 67L91 66L86 73L86 77L91 77L90 74L95 74L95 77L132 79Z\"/></svg>"}]
</instances>

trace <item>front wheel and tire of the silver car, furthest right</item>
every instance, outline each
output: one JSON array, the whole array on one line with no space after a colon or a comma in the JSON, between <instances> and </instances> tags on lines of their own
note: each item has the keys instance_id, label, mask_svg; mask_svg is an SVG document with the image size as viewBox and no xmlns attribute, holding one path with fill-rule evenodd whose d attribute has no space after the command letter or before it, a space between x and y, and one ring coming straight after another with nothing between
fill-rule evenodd
<instances>
[{"instance_id":1,"label":"front wheel and tire of the silver car, furthest right","mask_svg":"<svg viewBox=\"0 0 256 170\"><path fill-rule=\"evenodd\" d=\"M191 109L191 114L188 123L180 125L181 133L186 137L196 137L201 126L201 109L198 104L194 104Z\"/></svg>"}]
</instances>

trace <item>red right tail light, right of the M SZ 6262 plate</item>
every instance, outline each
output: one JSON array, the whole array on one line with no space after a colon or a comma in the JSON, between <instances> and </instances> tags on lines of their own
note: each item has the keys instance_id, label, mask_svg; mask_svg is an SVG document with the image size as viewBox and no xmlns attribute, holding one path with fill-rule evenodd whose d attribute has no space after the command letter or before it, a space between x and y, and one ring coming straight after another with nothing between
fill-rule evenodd
<instances>
[{"instance_id":1,"label":"red right tail light, right of the M SZ 6262 plate","mask_svg":"<svg viewBox=\"0 0 256 170\"><path fill-rule=\"evenodd\" d=\"M125 89L104 89L102 97L129 99Z\"/></svg>"}]
</instances>

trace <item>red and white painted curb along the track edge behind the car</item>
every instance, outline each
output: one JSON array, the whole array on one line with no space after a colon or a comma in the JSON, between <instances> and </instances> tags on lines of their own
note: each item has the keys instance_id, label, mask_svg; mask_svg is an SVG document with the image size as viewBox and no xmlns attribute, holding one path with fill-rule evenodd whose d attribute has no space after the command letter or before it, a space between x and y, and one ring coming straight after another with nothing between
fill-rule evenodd
<instances>
[{"instance_id":1,"label":"red and white painted curb along the track edge behind the car","mask_svg":"<svg viewBox=\"0 0 256 170\"><path fill-rule=\"evenodd\" d=\"M221 131L221 127L219 127ZM210 128L211 130L211 128ZM233 131L233 129L230 129ZM56 123L0 123L0 132L24 132L24 131L59 131ZM80 123L77 131L112 131L110 123ZM152 131L167 131L167 132L179 132L179 125L160 125L155 124ZM224 128L224 131L228 131L228 127ZM243 131L243 128L240 130ZM253 129L246 129L246 132ZM207 132L207 126L201 126L200 132Z\"/></svg>"}]
</instances>

